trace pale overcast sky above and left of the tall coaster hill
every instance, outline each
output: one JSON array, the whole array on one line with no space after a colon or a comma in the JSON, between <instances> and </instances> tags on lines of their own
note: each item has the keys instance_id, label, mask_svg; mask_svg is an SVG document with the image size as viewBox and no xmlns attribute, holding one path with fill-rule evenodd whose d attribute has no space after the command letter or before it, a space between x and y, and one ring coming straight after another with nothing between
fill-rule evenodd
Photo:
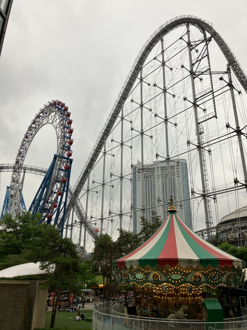
<instances>
[{"instance_id":1,"label":"pale overcast sky above and left of the tall coaster hill","mask_svg":"<svg viewBox=\"0 0 247 330\"><path fill-rule=\"evenodd\" d=\"M0 58L0 163L14 163L35 114L59 99L73 119L74 186L138 52L160 25L179 15L212 22L247 72L246 0L14 0ZM25 164L48 168L55 152L55 132L46 126ZM1 174L1 208L10 178ZM35 192L41 178L26 180ZM28 206L32 196L24 195Z\"/></svg>"}]
</instances>

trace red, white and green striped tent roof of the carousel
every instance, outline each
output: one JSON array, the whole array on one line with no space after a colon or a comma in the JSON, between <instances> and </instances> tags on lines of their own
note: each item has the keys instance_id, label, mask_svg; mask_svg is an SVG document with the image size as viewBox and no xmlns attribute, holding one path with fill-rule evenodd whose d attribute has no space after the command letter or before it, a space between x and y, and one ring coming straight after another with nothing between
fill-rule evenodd
<instances>
[{"instance_id":1,"label":"red, white and green striped tent roof of the carousel","mask_svg":"<svg viewBox=\"0 0 247 330\"><path fill-rule=\"evenodd\" d=\"M130 271L138 267L163 271L243 267L242 260L214 247L190 230L176 214L172 200L169 209L170 214L159 229L139 248L115 260L114 267Z\"/></svg>"}]
</instances>

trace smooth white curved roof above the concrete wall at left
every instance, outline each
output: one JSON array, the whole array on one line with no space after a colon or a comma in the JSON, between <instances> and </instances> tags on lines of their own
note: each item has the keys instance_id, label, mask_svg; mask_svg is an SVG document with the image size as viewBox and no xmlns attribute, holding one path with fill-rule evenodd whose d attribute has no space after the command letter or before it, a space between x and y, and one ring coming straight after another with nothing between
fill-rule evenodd
<instances>
[{"instance_id":1,"label":"smooth white curved roof above the concrete wall at left","mask_svg":"<svg viewBox=\"0 0 247 330\"><path fill-rule=\"evenodd\" d=\"M0 271L1 277L14 277L14 276L22 276L22 275L38 275L38 274L46 274L45 270L41 270L40 263L35 264L34 262L28 262L26 264L21 264L17 266L13 266L10 268L6 268Z\"/></svg>"}]
</instances>

